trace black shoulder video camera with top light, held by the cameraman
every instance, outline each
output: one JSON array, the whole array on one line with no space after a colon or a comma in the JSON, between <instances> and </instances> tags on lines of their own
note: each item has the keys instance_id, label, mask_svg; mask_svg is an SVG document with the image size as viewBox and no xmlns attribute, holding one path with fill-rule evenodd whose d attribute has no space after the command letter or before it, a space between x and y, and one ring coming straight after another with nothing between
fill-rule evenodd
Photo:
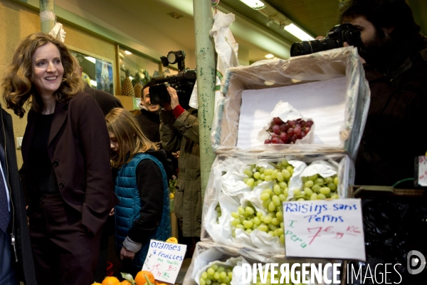
<instances>
[{"instance_id":1,"label":"black shoulder video camera with top light, held by the cameraman","mask_svg":"<svg viewBox=\"0 0 427 285\"><path fill-rule=\"evenodd\" d=\"M189 108L191 91L196 83L196 69L185 69L185 53L184 51L169 51L166 56L162 56L160 60L164 67L169 64L178 63L178 74L174 76L154 77L150 81L153 86L149 87L149 100L153 105L169 103L171 97L167 92L167 86L164 83L169 83L169 86L176 90L178 94L179 105L182 108Z\"/></svg>"}]
</instances>

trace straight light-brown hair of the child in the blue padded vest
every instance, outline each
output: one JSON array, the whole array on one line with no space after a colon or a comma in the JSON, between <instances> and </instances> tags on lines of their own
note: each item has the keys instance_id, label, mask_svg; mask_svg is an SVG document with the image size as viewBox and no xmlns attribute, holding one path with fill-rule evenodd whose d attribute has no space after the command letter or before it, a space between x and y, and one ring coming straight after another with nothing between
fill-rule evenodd
<instances>
[{"instance_id":1,"label":"straight light-brown hair of the child in the blue padded vest","mask_svg":"<svg viewBox=\"0 0 427 285\"><path fill-rule=\"evenodd\" d=\"M144 133L135 117L129 111L122 108L114 108L105 116L108 132L115 135L119 144L119 153L111 157L111 166L120 168L130 162L139 152L153 149L158 150L158 143L150 141Z\"/></svg>"}]
</instances>

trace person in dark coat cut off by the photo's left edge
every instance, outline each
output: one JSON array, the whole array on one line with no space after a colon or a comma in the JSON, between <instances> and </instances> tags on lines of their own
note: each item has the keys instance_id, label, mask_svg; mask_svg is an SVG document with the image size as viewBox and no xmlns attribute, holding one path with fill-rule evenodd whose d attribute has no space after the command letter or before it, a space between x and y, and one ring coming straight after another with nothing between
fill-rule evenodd
<instances>
[{"instance_id":1,"label":"person in dark coat cut off by the photo's left edge","mask_svg":"<svg viewBox=\"0 0 427 285\"><path fill-rule=\"evenodd\" d=\"M4 229L0 229L0 284L15 285L17 281L21 280L26 285L33 285L37 284L36 274L28 232L26 204L19 181L15 149L11 115L1 109L0 179L6 183L3 183L0 191L6 190L9 193L6 200L9 205L0 204L0 207L9 213L9 223L6 224L6 232ZM4 195L4 192L0 195Z\"/></svg>"}]
</instances>

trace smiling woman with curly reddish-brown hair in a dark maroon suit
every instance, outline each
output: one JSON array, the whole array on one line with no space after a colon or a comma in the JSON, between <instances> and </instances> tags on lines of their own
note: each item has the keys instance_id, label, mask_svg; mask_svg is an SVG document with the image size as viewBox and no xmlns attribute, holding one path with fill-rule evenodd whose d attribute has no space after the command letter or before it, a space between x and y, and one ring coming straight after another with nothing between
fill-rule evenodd
<instances>
[{"instance_id":1,"label":"smiling woman with curly reddish-brown hair in a dark maroon suit","mask_svg":"<svg viewBox=\"0 0 427 285\"><path fill-rule=\"evenodd\" d=\"M65 45L45 33L23 38L2 87L20 118L23 174L38 284L91 284L102 224L117 200L105 118L75 73Z\"/></svg>"}]
</instances>

